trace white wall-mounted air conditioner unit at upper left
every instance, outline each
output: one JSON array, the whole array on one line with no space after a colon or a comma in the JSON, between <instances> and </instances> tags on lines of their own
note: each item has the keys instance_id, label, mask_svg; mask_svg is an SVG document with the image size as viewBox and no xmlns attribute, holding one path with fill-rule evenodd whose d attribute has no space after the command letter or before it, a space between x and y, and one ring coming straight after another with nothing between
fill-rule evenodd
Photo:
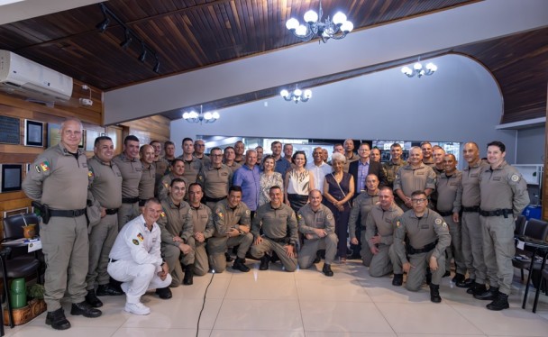
<instances>
[{"instance_id":1,"label":"white wall-mounted air conditioner unit at upper left","mask_svg":"<svg viewBox=\"0 0 548 337\"><path fill-rule=\"evenodd\" d=\"M72 77L12 51L0 50L0 91L44 102L68 101Z\"/></svg>"}]
</instances>

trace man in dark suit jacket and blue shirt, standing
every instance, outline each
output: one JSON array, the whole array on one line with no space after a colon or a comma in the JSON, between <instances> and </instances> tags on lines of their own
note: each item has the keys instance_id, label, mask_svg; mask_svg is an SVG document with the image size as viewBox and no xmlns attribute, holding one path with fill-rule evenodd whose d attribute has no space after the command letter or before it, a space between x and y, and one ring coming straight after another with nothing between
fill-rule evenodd
<instances>
[{"instance_id":1,"label":"man in dark suit jacket and blue shirt, standing","mask_svg":"<svg viewBox=\"0 0 548 337\"><path fill-rule=\"evenodd\" d=\"M356 191L354 197L358 196L361 192L367 191L367 187L365 186L365 178L370 174L374 174L377 178L379 178L379 187L383 187L388 184L387 176L382 168L382 165L377 161L370 160L370 154L370 144L367 142L362 142L360 148L358 149L358 156L360 159L352 161L348 167L348 173L354 177L354 191ZM356 228L358 229L356 231L356 238L359 242L358 244L351 244L351 259L361 259L361 222L360 219L356 220Z\"/></svg>"}]
</instances>

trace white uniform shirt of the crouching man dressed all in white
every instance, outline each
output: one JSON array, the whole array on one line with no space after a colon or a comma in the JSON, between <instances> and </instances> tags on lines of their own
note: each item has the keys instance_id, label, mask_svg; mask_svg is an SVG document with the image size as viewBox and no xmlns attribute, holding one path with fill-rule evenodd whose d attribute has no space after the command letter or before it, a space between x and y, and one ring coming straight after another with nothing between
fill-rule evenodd
<instances>
[{"instance_id":1,"label":"white uniform shirt of the crouching man dressed all in white","mask_svg":"<svg viewBox=\"0 0 548 337\"><path fill-rule=\"evenodd\" d=\"M160 227L152 224L149 231L142 215L126 223L118 233L110 250L109 258L114 260L132 260L138 264L153 264L160 267Z\"/></svg>"}]
</instances>

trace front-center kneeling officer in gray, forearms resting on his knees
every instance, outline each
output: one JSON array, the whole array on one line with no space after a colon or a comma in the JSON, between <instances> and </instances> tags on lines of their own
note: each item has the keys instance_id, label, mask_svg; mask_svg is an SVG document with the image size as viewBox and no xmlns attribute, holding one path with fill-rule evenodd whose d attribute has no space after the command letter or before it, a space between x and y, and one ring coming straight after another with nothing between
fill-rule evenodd
<instances>
[{"instance_id":1,"label":"front-center kneeling officer in gray, forearms resting on his knees","mask_svg":"<svg viewBox=\"0 0 548 337\"><path fill-rule=\"evenodd\" d=\"M269 252L275 251L286 271L297 269L297 217L282 203L279 186L270 187L269 204L261 205L253 218L251 233L255 239L251 255L260 259L260 270L269 269ZM262 235L260 235L262 230Z\"/></svg>"}]
</instances>

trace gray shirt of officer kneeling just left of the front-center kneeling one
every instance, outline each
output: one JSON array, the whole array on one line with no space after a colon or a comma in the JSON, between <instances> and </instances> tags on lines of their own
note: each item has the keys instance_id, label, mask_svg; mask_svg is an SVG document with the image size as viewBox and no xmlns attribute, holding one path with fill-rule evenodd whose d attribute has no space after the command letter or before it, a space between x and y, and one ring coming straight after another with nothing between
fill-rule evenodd
<instances>
[{"instance_id":1,"label":"gray shirt of officer kneeling just left of the front-center kneeling one","mask_svg":"<svg viewBox=\"0 0 548 337\"><path fill-rule=\"evenodd\" d=\"M239 230L240 226L251 227L251 211L243 203L231 208L228 205L228 200L224 199L219 201L214 209L214 236L216 238L225 237L226 231L232 228Z\"/></svg>"}]
</instances>

